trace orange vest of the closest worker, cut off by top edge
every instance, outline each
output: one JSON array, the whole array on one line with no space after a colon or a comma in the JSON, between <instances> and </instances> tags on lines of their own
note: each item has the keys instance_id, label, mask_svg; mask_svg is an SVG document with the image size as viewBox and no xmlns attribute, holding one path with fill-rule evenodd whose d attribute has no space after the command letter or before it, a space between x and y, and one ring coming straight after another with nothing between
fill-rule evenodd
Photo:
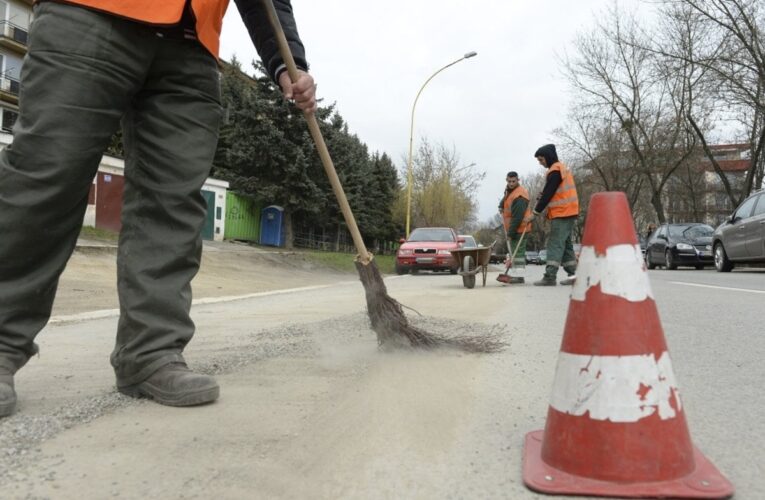
<instances>
[{"instance_id":1,"label":"orange vest of the closest worker, cut off by top edge","mask_svg":"<svg viewBox=\"0 0 765 500\"><path fill-rule=\"evenodd\" d=\"M197 24L197 37L212 55L218 57L220 30L229 0L191 0ZM91 9L149 24L173 25L181 20L186 0L66 0Z\"/></svg>"}]
</instances>

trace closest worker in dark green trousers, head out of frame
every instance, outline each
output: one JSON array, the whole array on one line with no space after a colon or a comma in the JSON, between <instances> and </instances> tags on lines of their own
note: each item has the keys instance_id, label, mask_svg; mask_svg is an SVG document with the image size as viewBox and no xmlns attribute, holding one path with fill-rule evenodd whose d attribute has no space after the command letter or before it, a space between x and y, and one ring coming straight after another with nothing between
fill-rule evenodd
<instances>
[{"instance_id":1,"label":"closest worker in dark green trousers, head out of frame","mask_svg":"<svg viewBox=\"0 0 765 500\"><path fill-rule=\"evenodd\" d=\"M289 0L275 0L301 68L290 81L260 0L236 0L269 76L316 110ZM36 352L88 191L122 125L125 189L118 250L117 389L172 406L217 399L186 366L222 110L218 37L228 0L44 0L34 6L14 140L0 153L0 417L14 374ZM21 226L23 225L23 229ZM43 358L44 359L44 358ZM56 388L51 388L56 391Z\"/></svg>"}]
</instances>

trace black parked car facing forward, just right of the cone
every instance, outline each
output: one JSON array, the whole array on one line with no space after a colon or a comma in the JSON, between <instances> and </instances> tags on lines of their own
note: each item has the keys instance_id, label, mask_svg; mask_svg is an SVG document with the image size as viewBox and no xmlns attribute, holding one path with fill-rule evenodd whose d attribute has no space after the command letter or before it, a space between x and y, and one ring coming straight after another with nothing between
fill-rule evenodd
<instances>
[{"instance_id":1,"label":"black parked car facing forward, just right of the cone","mask_svg":"<svg viewBox=\"0 0 765 500\"><path fill-rule=\"evenodd\" d=\"M714 264L712 257L712 226L690 222L662 224L651 234L645 252L648 269L663 266L677 269L690 266L704 269Z\"/></svg>"}]
</instances>

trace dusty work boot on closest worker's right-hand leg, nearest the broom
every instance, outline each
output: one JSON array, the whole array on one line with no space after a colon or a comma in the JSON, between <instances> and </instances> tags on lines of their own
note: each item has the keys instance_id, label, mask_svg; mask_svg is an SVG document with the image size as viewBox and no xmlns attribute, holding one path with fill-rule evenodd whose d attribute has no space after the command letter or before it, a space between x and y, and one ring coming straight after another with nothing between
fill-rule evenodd
<instances>
[{"instance_id":1,"label":"dusty work boot on closest worker's right-hand leg, nearest the broom","mask_svg":"<svg viewBox=\"0 0 765 500\"><path fill-rule=\"evenodd\" d=\"M218 399L220 388L209 375L194 373L186 363L169 363L143 382L117 386L122 394L146 397L167 406L194 406Z\"/></svg>"}]
</instances>

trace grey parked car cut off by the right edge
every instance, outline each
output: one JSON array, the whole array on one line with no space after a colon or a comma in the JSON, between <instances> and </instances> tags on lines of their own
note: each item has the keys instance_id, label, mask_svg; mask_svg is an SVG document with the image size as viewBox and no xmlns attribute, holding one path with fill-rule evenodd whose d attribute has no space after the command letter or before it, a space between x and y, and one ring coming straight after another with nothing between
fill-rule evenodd
<instances>
[{"instance_id":1,"label":"grey parked car cut off by the right edge","mask_svg":"<svg viewBox=\"0 0 765 500\"><path fill-rule=\"evenodd\" d=\"M715 268L728 272L735 264L765 264L765 191L743 201L712 237Z\"/></svg>"}]
</instances>

